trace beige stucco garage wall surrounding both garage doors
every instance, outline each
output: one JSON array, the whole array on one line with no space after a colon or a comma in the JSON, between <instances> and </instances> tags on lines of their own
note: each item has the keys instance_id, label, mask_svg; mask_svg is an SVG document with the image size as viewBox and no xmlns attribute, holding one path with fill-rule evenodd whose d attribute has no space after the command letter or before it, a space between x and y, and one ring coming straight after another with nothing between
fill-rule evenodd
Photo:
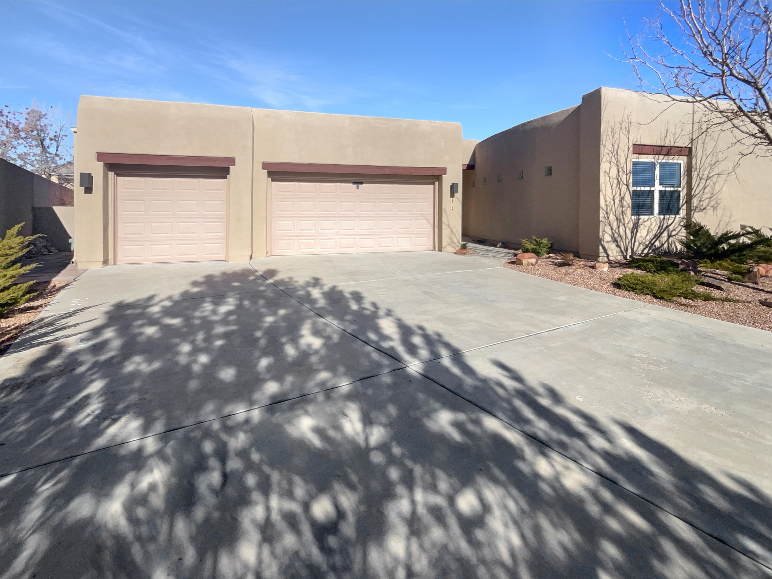
<instances>
[{"instance_id":1,"label":"beige stucco garage wall surrounding both garage doors","mask_svg":"<svg viewBox=\"0 0 772 579\"><path fill-rule=\"evenodd\" d=\"M92 191L76 187L79 267L115 259L115 175L97 152L235 157L228 177L230 262L269 251L271 175L263 161L447 168L435 178L435 246L454 251L461 240L461 204L451 209L449 203L449 185L462 178L456 123L83 96L75 152L76 176L94 176Z\"/></svg>"}]
</instances>

